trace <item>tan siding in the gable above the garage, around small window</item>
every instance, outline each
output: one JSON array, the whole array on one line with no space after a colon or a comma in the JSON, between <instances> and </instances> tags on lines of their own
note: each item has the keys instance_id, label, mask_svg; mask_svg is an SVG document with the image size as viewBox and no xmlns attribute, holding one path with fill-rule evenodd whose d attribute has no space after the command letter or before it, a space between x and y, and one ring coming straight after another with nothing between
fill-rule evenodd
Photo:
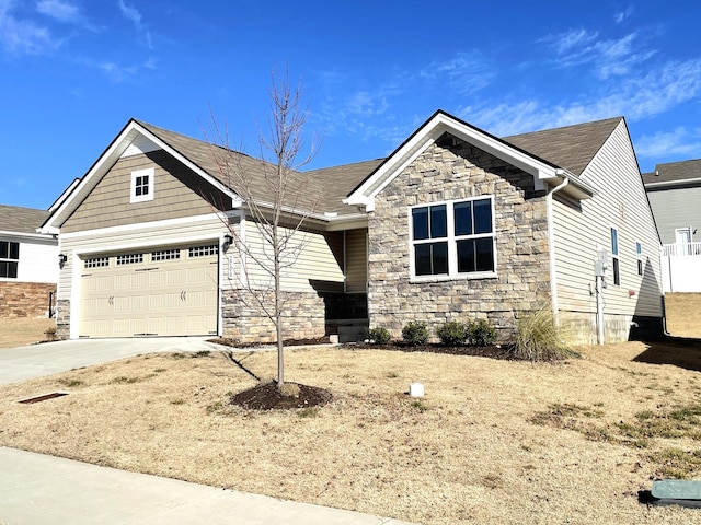
<instances>
[{"instance_id":1,"label":"tan siding in the gable above the garage, around small window","mask_svg":"<svg viewBox=\"0 0 701 525\"><path fill-rule=\"evenodd\" d=\"M153 200L131 203L131 172L149 167L154 168ZM211 213L210 202L220 207L223 200L202 177L164 151L126 156L61 225L61 233Z\"/></svg>"}]
</instances>

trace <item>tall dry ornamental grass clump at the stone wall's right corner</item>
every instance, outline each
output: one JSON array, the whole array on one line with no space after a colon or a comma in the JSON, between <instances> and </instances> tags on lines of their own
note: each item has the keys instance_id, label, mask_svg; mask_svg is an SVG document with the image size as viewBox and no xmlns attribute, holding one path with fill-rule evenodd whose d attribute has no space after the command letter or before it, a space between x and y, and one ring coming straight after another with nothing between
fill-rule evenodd
<instances>
[{"instance_id":1,"label":"tall dry ornamental grass clump at the stone wall's right corner","mask_svg":"<svg viewBox=\"0 0 701 525\"><path fill-rule=\"evenodd\" d=\"M552 361L576 355L562 339L563 334L550 305L543 305L518 319L514 351L519 359L529 361Z\"/></svg>"}]
</instances>

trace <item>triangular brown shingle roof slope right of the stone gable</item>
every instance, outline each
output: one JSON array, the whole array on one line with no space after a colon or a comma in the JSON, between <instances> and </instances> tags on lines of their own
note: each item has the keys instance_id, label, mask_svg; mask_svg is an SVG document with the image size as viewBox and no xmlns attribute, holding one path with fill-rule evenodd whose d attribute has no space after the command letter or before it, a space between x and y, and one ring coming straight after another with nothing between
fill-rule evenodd
<instances>
[{"instance_id":1,"label":"triangular brown shingle roof slope right of the stone gable","mask_svg":"<svg viewBox=\"0 0 701 525\"><path fill-rule=\"evenodd\" d=\"M505 137L504 140L582 175L623 117Z\"/></svg>"}]
</instances>

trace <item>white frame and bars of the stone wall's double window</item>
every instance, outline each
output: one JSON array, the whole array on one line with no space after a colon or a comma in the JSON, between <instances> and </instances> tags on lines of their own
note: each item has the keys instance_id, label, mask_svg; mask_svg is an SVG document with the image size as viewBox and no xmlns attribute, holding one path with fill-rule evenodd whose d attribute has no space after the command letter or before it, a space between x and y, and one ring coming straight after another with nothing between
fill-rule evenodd
<instances>
[{"instance_id":1,"label":"white frame and bars of the stone wall's double window","mask_svg":"<svg viewBox=\"0 0 701 525\"><path fill-rule=\"evenodd\" d=\"M473 238L475 235L458 235L455 234L455 212L453 205L456 202L468 202L475 200L485 200L490 199L490 206L492 208L492 252L494 254L494 271L473 271L459 273L458 272L458 245L457 241L463 238ZM448 273L437 275L437 276L417 276L416 275L416 266L415 266L415 256L414 256L414 246L416 244L423 243L432 243L432 242L440 242L440 240L422 240L418 242L414 242L414 230L412 224L412 210L416 208L427 208L432 206L440 206L446 205L446 221L448 226L448 235L445 241L448 243ZM414 205L409 207L409 271L410 271L410 282L438 282L438 281L455 281L455 280L472 280L472 279L492 279L498 277L497 268L497 253L496 253L496 217L494 212L494 196L493 195L480 195L475 197L467 197L464 199L453 199L453 200L439 200L435 202L424 202L421 205ZM483 235L487 236L487 235Z\"/></svg>"}]
</instances>

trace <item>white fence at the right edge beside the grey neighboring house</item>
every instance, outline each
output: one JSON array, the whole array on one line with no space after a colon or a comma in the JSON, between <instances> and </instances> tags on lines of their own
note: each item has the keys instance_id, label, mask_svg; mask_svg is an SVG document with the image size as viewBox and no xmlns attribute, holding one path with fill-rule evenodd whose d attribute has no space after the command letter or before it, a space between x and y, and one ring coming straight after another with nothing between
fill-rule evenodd
<instances>
[{"instance_id":1,"label":"white fence at the right edge beside the grey neighboring house","mask_svg":"<svg viewBox=\"0 0 701 525\"><path fill-rule=\"evenodd\" d=\"M667 292L701 292L701 243L665 244L662 284Z\"/></svg>"}]
</instances>

